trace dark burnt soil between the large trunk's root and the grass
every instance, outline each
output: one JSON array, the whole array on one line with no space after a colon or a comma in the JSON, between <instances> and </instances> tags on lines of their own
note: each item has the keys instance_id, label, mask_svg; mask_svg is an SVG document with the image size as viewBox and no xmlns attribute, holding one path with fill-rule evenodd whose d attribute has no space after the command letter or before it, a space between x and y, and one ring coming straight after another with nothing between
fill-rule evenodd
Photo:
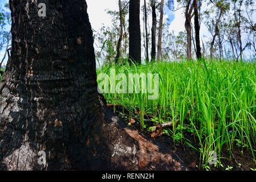
<instances>
[{"instance_id":1,"label":"dark burnt soil between the large trunk's root and the grass","mask_svg":"<svg viewBox=\"0 0 256 182\"><path fill-rule=\"evenodd\" d=\"M191 133L185 133L184 137L188 139L192 146L195 148L185 143L174 142L173 138L164 134L160 135L159 137L152 138L150 131L147 131L146 129L143 131L141 130L139 119L133 118L134 123L130 123L129 110L119 105L109 104L108 107L114 110L115 114L122 118L123 121L131 128L138 131L139 133L142 133L146 137L151 138L152 140L163 143L166 147L174 151L180 157L180 159L183 160L185 166L190 167L194 170L204 170L202 167L200 168L200 152L195 150L195 148L200 148L199 142L197 142L196 138ZM134 115L136 114L138 113L136 113L135 111ZM146 119L146 121L150 121L151 119L150 116L147 114L144 118ZM153 126L152 122L145 122L144 124L147 126L147 128ZM254 152L254 155L256 156L256 152ZM243 148L242 151L242 148L237 147L236 145L234 145L233 154L230 154L228 150L222 151L221 164L223 167L214 168L213 166L211 166L210 169L213 171L225 171L227 167L233 167L233 171L250 171L251 168L256 169L256 162L254 162L253 160L253 155L251 154L251 151L245 148Z\"/></svg>"}]
</instances>

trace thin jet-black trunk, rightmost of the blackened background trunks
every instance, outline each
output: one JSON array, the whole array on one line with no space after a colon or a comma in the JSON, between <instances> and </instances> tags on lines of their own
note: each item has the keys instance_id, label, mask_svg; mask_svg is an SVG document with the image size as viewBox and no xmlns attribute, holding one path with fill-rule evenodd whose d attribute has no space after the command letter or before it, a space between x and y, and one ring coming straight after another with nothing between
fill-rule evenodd
<instances>
[{"instance_id":1,"label":"thin jet-black trunk, rightmost of the blackened background trunks","mask_svg":"<svg viewBox=\"0 0 256 182\"><path fill-rule=\"evenodd\" d=\"M196 36L196 57L197 59L202 58L201 46L200 46L200 22L199 22L199 12L197 7L197 1L194 3L194 12L195 12L195 36Z\"/></svg>"}]
</instances>

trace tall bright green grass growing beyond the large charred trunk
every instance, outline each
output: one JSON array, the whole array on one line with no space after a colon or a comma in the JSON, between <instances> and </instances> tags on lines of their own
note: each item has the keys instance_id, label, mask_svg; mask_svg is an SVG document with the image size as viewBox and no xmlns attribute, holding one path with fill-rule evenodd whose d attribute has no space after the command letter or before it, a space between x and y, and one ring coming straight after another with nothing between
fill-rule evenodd
<instances>
[{"instance_id":1,"label":"tall bright green grass growing beyond the large charred trunk","mask_svg":"<svg viewBox=\"0 0 256 182\"><path fill-rule=\"evenodd\" d=\"M256 146L256 64L228 61L158 62L147 65L108 65L97 73L159 73L159 97L148 100L147 94L104 94L110 104L125 106L129 117L140 110L139 121L144 129L144 114L154 115L154 123L180 119L179 126L165 130L175 142L193 143L200 151L201 167L208 167L209 153L215 151L218 161L222 152L234 146L250 150L255 161ZM191 111L187 117L188 111ZM220 163L219 163L220 164Z\"/></svg>"}]
</instances>

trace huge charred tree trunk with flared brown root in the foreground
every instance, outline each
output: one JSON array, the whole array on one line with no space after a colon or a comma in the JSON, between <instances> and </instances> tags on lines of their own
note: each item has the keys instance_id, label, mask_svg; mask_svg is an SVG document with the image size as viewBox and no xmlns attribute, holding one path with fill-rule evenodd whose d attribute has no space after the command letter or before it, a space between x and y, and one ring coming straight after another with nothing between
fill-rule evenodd
<instances>
[{"instance_id":1,"label":"huge charred tree trunk with flared brown root in the foreground","mask_svg":"<svg viewBox=\"0 0 256 182\"><path fill-rule=\"evenodd\" d=\"M181 170L174 152L126 127L97 92L85 1L10 1L11 58L0 82L0 169ZM38 163L39 151L46 163Z\"/></svg>"}]
</instances>

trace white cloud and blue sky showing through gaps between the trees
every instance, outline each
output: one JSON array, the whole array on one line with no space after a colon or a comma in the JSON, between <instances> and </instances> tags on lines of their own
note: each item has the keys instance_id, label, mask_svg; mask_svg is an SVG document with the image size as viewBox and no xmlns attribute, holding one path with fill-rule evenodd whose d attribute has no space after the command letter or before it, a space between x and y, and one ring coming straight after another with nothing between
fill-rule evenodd
<instances>
[{"instance_id":1,"label":"white cloud and blue sky showing through gaps between the trees","mask_svg":"<svg viewBox=\"0 0 256 182\"><path fill-rule=\"evenodd\" d=\"M148 1L148 0L147 0ZM0 0L0 6L5 5L8 0ZM92 24L92 28L95 31L99 31L102 24L105 24L106 26L111 24L111 16L106 13L106 9L110 10L118 10L118 0L86 0L88 4L88 14L90 23ZM141 3L143 3L141 1ZM174 8L177 8L177 0L174 0L175 6ZM174 31L175 34L178 34L180 31L184 31L184 14L183 9L177 10L177 11L170 11L168 7L164 7L164 18L168 19L169 23L169 30ZM142 13L141 13L142 16ZM142 18L142 17L141 17ZM143 23L141 23L141 26L143 28ZM10 27L8 27L10 28ZM143 29L142 29L143 30ZM201 37L207 36L210 37L210 34L207 30L207 27L205 27L204 24L201 24L201 30L200 30ZM96 48L97 49L97 48ZM0 59L3 57L5 51L0 52ZM6 64L6 61L5 61Z\"/></svg>"}]
</instances>

